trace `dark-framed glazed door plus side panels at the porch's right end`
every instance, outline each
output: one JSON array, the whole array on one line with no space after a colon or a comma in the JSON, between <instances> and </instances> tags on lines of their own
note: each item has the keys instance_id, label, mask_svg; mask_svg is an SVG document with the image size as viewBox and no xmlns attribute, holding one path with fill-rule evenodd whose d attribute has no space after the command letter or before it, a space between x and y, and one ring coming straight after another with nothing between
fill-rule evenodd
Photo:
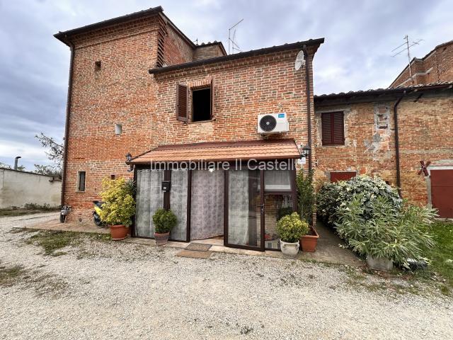
<instances>
[{"instance_id":1,"label":"dark-framed glazed door plus side panels at the porch's right end","mask_svg":"<svg viewBox=\"0 0 453 340\"><path fill-rule=\"evenodd\" d=\"M276 223L296 210L294 171L230 169L225 173L224 244L280 249Z\"/></svg>"}]
</instances>

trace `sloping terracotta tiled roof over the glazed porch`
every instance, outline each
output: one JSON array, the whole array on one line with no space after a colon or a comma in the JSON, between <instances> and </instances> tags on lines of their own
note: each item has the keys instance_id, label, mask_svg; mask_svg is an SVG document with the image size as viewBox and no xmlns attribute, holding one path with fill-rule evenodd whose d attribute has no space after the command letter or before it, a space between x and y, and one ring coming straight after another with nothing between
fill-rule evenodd
<instances>
[{"instance_id":1,"label":"sloping terracotta tiled roof over the glazed porch","mask_svg":"<svg viewBox=\"0 0 453 340\"><path fill-rule=\"evenodd\" d=\"M249 140L164 145L133 158L129 164L154 162L236 161L236 159L295 159L299 149L294 140Z\"/></svg>"}]
</instances>

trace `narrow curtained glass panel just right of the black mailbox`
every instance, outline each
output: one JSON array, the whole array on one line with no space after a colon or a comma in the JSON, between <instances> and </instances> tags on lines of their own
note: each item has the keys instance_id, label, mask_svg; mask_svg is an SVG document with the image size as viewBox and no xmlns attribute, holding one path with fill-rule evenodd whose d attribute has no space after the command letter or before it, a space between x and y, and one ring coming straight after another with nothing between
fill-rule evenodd
<instances>
[{"instance_id":1,"label":"narrow curtained glass panel just right of the black mailbox","mask_svg":"<svg viewBox=\"0 0 453 340\"><path fill-rule=\"evenodd\" d=\"M178 241L187 239L187 170L171 171L170 207L178 218L170 237Z\"/></svg>"}]
</instances>

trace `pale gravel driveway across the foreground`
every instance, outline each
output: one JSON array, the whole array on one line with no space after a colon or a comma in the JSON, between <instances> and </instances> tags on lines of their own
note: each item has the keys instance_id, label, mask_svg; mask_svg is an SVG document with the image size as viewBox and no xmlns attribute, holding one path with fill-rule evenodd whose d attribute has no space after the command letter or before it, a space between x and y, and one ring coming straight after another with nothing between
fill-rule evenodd
<instances>
[{"instance_id":1,"label":"pale gravel driveway across the foreground","mask_svg":"<svg viewBox=\"0 0 453 340\"><path fill-rule=\"evenodd\" d=\"M0 219L0 339L453 339L451 298L377 288L380 278L318 263L82 237L46 256ZM355 284L355 282L360 284ZM397 283L408 288L408 283Z\"/></svg>"}]
</instances>

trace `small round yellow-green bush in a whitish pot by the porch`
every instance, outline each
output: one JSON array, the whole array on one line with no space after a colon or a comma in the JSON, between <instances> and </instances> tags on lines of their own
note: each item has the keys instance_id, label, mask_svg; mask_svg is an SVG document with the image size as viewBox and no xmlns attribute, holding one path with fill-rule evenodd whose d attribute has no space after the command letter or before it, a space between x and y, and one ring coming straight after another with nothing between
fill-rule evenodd
<instances>
[{"instance_id":1,"label":"small round yellow-green bush in a whitish pot by the porch","mask_svg":"<svg viewBox=\"0 0 453 340\"><path fill-rule=\"evenodd\" d=\"M280 249L283 255L295 257L299 252L299 239L309 232L309 225L300 219L297 212L293 212L277 222L277 232L280 235Z\"/></svg>"}]
</instances>

